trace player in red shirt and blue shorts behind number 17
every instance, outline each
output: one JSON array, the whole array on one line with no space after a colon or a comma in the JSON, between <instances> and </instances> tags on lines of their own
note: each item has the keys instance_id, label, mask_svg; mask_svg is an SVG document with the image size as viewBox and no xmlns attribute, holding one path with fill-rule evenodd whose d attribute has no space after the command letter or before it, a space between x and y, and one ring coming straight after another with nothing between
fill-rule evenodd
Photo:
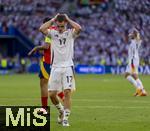
<instances>
[{"instance_id":1,"label":"player in red shirt and blue shorts behind number 17","mask_svg":"<svg viewBox=\"0 0 150 131\"><path fill-rule=\"evenodd\" d=\"M48 21L49 18L45 18L43 23ZM52 30L56 30L55 26L50 27ZM36 51L43 50L44 54L41 60L40 64L40 72L39 72L39 78L40 78L40 87L41 87L41 103L42 108L40 112L47 114L46 109L48 105L48 79L50 77L50 65L51 65L51 39L48 37L45 37L45 44L40 46L35 46L28 55L32 55ZM58 96L61 100L64 99L64 93L60 91L58 93Z\"/></svg>"}]
</instances>

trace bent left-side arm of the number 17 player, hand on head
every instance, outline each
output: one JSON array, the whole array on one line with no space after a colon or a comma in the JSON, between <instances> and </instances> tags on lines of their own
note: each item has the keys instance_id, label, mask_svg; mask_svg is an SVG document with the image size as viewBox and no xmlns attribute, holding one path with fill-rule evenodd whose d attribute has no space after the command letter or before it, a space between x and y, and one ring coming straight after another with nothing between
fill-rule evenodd
<instances>
[{"instance_id":1,"label":"bent left-side arm of the number 17 player, hand on head","mask_svg":"<svg viewBox=\"0 0 150 131\"><path fill-rule=\"evenodd\" d=\"M53 22L54 22L54 18L52 18L48 22L42 24L39 28L39 31L42 32L43 34L47 35L48 34L47 30L52 25Z\"/></svg>"}]
</instances>

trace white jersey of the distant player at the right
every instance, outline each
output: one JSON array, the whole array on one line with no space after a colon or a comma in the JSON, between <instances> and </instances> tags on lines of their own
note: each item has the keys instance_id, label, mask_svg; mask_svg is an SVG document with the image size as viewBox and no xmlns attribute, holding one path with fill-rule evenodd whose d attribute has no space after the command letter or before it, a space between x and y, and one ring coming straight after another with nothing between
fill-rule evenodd
<instances>
[{"instance_id":1,"label":"white jersey of the distant player at the right","mask_svg":"<svg viewBox=\"0 0 150 131\"><path fill-rule=\"evenodd\" d=\"M129 64L133 63L139 65L139 47L141 45L141 40L137 41L135 39L131 40L128 48L128 60Z\"/></svg>"}]
</instances>

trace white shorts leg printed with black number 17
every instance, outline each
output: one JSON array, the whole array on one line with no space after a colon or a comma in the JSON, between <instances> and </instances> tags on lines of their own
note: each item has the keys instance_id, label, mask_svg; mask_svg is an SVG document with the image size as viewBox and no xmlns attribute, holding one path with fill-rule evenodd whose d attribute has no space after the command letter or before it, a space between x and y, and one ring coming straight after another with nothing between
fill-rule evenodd
<instances>
[{"instance_id":1,"label":"white shorts leg printed with black number 17","mask_svg":"<svg viewBox=\"0 0 150 131\"><path fill-rule=\"evenodd\" d=\"M63 74L63 88L75 90L75 78L72 67L67 67Z\"/></svg>"}]
</instances>

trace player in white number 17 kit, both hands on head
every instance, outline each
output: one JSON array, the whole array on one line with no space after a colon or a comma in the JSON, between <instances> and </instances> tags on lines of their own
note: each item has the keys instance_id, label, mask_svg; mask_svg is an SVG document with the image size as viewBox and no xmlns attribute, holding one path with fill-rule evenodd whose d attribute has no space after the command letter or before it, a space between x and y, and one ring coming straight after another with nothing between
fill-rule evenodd
<instances>
[{"instance_id":1,"label":"player in white number 17 kit, both hands on head","mask_svg":"<svg viewBox=\"0 0 150 131\"><path fill-rule=\"evenodd\" d=\"M57 30L49 30L55 23ZM67 24L71 29L67 29ZM69 126L68 118L71 112L71 93L75 90L73 72L74 39L79 35L81 26L71 20L66 14L57 14L50 21L41 25L39 29L46 36L51 37L52 69L48 83L49 95L52 103L59 111L58 122ZM57 98L57 92L64 91L64 107Z\"/></svg>"}]
</instances>

